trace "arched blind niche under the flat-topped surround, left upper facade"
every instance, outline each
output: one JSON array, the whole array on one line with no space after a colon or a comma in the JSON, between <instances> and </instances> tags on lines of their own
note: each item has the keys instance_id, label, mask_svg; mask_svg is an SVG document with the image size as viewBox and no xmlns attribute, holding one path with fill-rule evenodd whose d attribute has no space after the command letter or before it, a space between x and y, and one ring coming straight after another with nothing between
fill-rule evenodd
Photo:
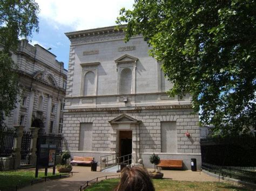
<instances>
[{"instance_id":1,"label":"arched blind niche under the flat-topped surround, left upper facade","mask_svg":"<svg viewBox=\"0 0 256 191\"><path fill-rule=\"evenodd\" d=\"M84 76L84 96L95 95L95 74L87 72Z\"/></svg>"}]
</instances>

